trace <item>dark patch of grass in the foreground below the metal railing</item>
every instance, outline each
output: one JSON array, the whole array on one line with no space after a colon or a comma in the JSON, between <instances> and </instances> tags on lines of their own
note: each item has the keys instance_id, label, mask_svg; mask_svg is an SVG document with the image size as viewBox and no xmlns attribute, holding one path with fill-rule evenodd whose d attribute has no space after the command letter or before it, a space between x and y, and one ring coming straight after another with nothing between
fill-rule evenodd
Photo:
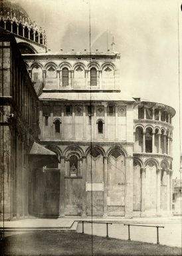
<instances>
[{"instance_id":1,"label":"dark patch of grass in the foreground below the metal railing","mask_svg":"<svg viewBox=\"0 0 182 256\"><path fill-rule=\"evenodd\" d=\"M35 231L12 235L5 237L3 248L6 256L181 255L179 247L106 239L73 231Z\"/></svg>"}]
</instances>

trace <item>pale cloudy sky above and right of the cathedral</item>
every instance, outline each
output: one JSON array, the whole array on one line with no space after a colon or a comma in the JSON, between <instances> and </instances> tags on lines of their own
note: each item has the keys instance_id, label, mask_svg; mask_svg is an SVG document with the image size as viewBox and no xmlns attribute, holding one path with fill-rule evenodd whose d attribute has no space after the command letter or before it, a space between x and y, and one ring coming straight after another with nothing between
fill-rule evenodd
<instances>
[{"instance_id":1,"label":"pale cloudy sky above and right of the cathedral","mask_svg":"<svg viewBox=\"0 0 182 256\"><path fill-rule=\"evenodd\" d=\"M92 51L107 51L114 37L115 51L121 54L122 91L132 97L170 105L177 112L173 117L173 178L179 177L182 1L17 0L17 3L32 21L45 28L51 51L89 50L89 32Z\"/></svg>"}]
</instances>

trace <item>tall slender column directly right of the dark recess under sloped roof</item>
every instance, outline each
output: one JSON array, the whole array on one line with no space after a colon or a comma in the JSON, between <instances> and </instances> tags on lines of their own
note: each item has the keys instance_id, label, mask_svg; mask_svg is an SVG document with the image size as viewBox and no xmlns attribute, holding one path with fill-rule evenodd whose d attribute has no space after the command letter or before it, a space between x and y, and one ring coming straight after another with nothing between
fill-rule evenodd
<instances>
[{"instance_id":1,"label":"tall slender column directly right of the dark recess under sloped roof","mask_svg":"<svg viewBox=\"0 0 182 256\"><path fill-rule=\"evenodd\" d=\"M58 164L60 169L60 194L59 194L59 217L64 217L64 170L65 159L62 158Z\"/></svg>"}]
</instances>

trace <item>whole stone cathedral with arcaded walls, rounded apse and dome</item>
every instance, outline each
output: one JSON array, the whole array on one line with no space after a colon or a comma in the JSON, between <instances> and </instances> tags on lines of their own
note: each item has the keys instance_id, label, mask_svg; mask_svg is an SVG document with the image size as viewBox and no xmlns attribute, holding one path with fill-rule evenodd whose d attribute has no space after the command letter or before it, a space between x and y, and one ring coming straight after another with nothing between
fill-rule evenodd
<instances>
[{"instance_id":1,"label":"whole stone cathedral with arcaded walls, rounded apse and dome","mask_svg":"<svg viewBox=\"0 0 182 256\"><path fill-rule=\"evenodd\" d=\"M0 26L1 219L170 215L175 110L124 95L116 51L47 51L7 0Z\"/></svg>"}]
</instances>

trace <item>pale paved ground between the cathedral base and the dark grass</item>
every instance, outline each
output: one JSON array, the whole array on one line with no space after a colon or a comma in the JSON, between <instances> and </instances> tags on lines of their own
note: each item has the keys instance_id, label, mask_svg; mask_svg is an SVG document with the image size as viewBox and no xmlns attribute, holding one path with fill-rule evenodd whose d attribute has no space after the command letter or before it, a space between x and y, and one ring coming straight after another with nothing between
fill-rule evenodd
<instances>
[{"instance_id":1,"label":"pale paved ground between the cathedral base and the dark grass","mask_svg":"<svg viewBox=\"0 0 182 256\"><path fill-rule=\"evenodd\" d=\"M19 221L5 221L4 227L21 228L62 228L76 230L77 223L74 221L91 220L90 218L62 218L62 219L23 219ZM128 227L124 223L133 223L140 225L163 225L164 229L159 229L159 242L163 245L181 247L182 241L182 219L181 217L155 217L155 218L94 218L93 221L119 221L109 225L109 236L119 239L128 239ZM3 227L3 222L0 222ZM93 229L91 229L93 228ZM82 224L78 224L77 232L82 232ZM21 232L19 232L21 233ZM106 224L84 224L84 233L106 236ZM5 233L5 236L13 233ZM144 241L156 243L157 231L155 227L130 227L130 236L134 241Z\"/></svg>"}]
</instances>

